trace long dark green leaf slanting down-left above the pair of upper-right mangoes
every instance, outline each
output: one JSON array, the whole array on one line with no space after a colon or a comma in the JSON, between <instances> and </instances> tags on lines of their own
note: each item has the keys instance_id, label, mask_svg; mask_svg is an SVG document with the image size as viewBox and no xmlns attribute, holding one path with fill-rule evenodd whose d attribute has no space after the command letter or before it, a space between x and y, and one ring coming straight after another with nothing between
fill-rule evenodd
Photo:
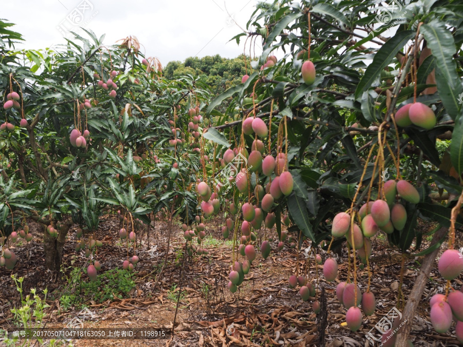
<instances>
[{"instance_id":1,"label":"long dark green leaf slanting down-left above the pair of upper-right mangoes","mask_svg":"<svg viewBox=\"0 0 463 347\"><path fill-rule=\"evenodd\" d=\"M366 68L365 75L360 80L357 89L355 89L355 99L370 88L381 71L395 58L397 52L414 36L415 32L412 30L399 31L376 52L375 58Z\"/></svg>"}]
</instances>

